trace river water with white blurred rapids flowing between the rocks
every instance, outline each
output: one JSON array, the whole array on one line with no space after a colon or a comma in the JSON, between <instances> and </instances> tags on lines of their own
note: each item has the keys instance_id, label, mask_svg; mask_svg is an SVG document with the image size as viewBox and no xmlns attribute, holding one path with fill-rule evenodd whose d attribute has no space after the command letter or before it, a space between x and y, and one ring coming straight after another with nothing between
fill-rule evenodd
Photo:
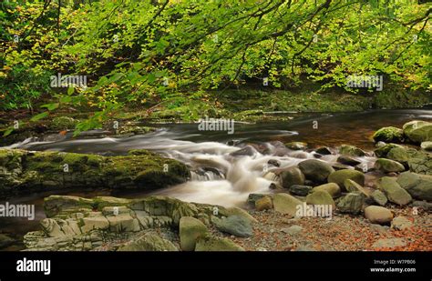
<instances>
[{"instance_id":1,"label":"river water with white blurred rapids flowing between the rocks","mask_svg":"<svg viewBox=\"0 0 432 281\"><path fill-rule=\"evenodd\" d=\"M335 163L337 146L349 144L371 152L374 143L370 136L380 127L401 127L413 119L431 120L432 110L377 110L349 114L316 114L296 116L292 121L260 124L237 123L234 134L226 131L199 131L197 124L159 125L156 132L124 138L103 137L100 132L87 132L80 138L71 135L47 135L44 139L28 139L10 146L28 150L51 150L93 153L104 156L127 154L131 149L149 149L163 156L178 159L190 166L190 181L156 192L67 190L12 198L15 204L35 204L36 220L2 219L0 230L25 234L37 228L36 222L44 217L43 197L50 194L75 196L165 195L184 201L222 206L242 206L251 193L270 193L269 186L277 180L272 172L278 168L295 166L308 158L318 157L314 147L329 146L334 155L320 156L321 160ZM282 143L302 141L309 145L306 152L286 149ZM280 166L268 164L276 160ZM375 157L358 157L365 166L372 166ZM275 161L273 161L274 163ZM272 162L271 162L272 163ZM270 172L270 173L269 173ZM368 173L366 181L375 180ZM367 185L367 183L366 183ZM103 186L102 186L103 187Z\"/></svg>"}]
</instances>

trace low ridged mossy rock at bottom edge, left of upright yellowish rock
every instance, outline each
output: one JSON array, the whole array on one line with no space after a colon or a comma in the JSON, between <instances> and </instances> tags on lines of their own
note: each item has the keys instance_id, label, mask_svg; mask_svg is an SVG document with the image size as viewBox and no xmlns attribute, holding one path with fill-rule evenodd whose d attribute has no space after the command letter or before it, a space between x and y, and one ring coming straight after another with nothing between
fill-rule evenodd
<instances>
[{"instance_id":1,"label":"low ridged mossy rock at bottom edge, left of upright yellowish rock","mask_svg":"<svg viewBox=\"0 0 432 281\"><path fill-rule=\"evenodd\" d=\"M132 242L120 246L118 248L118 251L120 252L132 252L132 251L139 251L139 252L146 252L146 251L162 251L162 252L176 252L179 249L172 244L167 239L164 239L160 236L156 236L154 234L146 234L144 236L139 237L136 240L133 240Z\"/></svg>"}]
</instances>

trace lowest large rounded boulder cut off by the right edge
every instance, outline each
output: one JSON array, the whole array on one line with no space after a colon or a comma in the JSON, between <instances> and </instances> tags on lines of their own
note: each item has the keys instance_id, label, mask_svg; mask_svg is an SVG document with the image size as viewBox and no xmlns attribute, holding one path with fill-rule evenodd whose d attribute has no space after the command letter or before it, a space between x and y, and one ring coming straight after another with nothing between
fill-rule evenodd
<instances>
[{"instance_id":1,"label":"lowest large rounded boulder cut off by the right edge","mask_svg":"<svg viewBox=\"0 0 432 281\"><path fill-rule=\"evenodd\" d=\"M432 202L432 176L405 172L397 177L396 182L414 198Z\"/></svg>"}]
</instances>

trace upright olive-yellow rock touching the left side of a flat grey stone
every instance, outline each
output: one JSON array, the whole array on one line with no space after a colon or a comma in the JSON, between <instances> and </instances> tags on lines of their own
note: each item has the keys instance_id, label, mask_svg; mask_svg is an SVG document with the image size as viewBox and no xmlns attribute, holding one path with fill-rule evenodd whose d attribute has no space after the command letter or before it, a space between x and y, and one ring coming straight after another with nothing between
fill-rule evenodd
<instances>
[{"instance_id":1,"label":"upright olive-yellow rock touching the left side of a flat grey stone","mask_svg":"<svg viewBox=\"0 0 432 281\"><path fill-rule=\"evenodd\" d=\"M201 220L191 216L180 218L180 246L183 251L193 251L200 236L207 234L209 230Z\"/></svg>"}]
</instances>

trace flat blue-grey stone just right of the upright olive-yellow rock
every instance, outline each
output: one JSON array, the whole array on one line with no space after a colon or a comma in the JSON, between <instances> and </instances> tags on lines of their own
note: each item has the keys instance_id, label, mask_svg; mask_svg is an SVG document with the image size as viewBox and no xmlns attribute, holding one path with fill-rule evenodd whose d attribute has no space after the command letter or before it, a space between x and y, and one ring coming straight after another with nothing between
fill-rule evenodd
<instances>
[{"instance_id":1,"label":"flat blue-grey stone just right of the upright olive-yellow rock","mask_svg":"<svg viewBox=\"0 0 432 281\"><path fill-rule=\"evenodd\" d=\"M213 224L219 231L238 237L253 236L251 222L243 216L228 216L215 220Z\"/></svg>"}]
</instances>

